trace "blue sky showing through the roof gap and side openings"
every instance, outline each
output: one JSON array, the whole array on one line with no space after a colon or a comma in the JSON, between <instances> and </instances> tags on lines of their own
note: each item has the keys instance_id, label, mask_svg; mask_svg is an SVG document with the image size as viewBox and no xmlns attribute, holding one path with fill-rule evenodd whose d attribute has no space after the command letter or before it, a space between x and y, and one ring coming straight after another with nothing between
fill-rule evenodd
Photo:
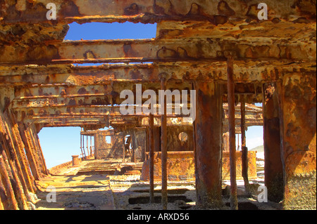
<instances>
[{"instance_id":1,"label":"blue sky showing through the roof gap and side openings","mask_svg":"<svg viewBox=\"0 0 317 224\"><path fill-rule=\"evenodd\" d=\"M156 37L156 25L131 22L70 24L66 40L93 39L149 39ZM44 128L39 132L47 168L69 162L72 155L80 154L80 127ZM240 141L241 142L241 141ZM249 127L247 147L263 145L263 127Z\"/></svg>"}]
</instances>

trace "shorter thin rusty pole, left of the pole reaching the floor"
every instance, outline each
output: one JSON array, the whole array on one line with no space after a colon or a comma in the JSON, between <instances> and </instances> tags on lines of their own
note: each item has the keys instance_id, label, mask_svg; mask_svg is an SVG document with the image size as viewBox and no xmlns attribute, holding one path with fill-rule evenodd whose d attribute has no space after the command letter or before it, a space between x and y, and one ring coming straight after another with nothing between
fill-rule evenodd
<instances>
[{"instance_id":1,"label":"shorter thin rusty pole, left of the pole reaching the floor","mask_svg":"<svg viewBox=\"0 0 317 224\"><path fill-rule=\"evenodd\" d=\"M149 114L149 197L154 203L154 114Z\"/></svg>"}]
</instances>

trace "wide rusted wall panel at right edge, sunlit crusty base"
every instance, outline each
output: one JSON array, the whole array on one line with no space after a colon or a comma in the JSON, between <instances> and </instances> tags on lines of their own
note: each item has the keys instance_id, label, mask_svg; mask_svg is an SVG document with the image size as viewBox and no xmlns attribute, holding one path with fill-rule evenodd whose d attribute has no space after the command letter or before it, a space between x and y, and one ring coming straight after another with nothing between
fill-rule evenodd
<instances>
[{"instance_id":1,"label":"wide rusted wall panel at right edge, sunlit crusty base","mask_svg":"<svg viewBox=\"0 0 317 224\"><path fill-rule=\"evenodd\" d=\"M316 74L278 83L285 209L316 209Z\"/></svg>"}]
</instances>

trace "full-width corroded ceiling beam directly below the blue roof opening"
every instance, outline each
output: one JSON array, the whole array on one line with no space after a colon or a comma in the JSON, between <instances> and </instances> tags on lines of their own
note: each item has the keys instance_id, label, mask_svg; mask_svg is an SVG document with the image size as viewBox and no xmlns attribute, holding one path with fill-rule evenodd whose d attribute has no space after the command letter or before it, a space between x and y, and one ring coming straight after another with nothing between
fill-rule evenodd
<instances>
[{"instance_id":1,"label":"full-width corroded ceiling beam directly below the blue roof opening","mask_svg":"<svg viewBox=\"0 0 317 224\"><path fill-rule=\"evenodd\" d=\"M47 65L106 62L218 62L225 51L235 60L308 61L316 58L316 41L280 39L107 40L64 41L62 44L1 47L0 65ZM315 47L315 48L313 48Z\"/></svg>"}]
</instances>

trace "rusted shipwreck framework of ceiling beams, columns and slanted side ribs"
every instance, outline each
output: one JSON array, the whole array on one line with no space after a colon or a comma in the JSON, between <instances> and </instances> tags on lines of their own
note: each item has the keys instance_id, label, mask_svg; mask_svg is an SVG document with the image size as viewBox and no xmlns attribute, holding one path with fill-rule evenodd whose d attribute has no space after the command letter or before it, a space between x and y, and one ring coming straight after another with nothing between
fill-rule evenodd
<instances>
[{"instance_id":1,"label":"rusted shipwreck framework of ceiling beams, columns and slanted side ribs","mask_svg":"<svg viewBox=\"0 0 317 224\"><path fill-rule=\"evenodd\" d=\"M236 127L247 184L245 105L263 103L268 198L282 199L283 209L316 209L316 1L266 0L263 20L256 1L56 0L56 20L46 17L49 3L0 1L0 209L29 209L35 180L49 175L37 136L43 127L109 125L118 132L147 130L149 179L160 151L166 209L166 163L175 147L168 121L186 116L121 114L120 92L135 92L136 84L156 93L196 91L196 119L178 131L190 130L197 205L222 204L228 131L231 207L237 209ZM127 21L157 23L156 38L63 40L71 22Z\"/></svg>"}]
</instances>

